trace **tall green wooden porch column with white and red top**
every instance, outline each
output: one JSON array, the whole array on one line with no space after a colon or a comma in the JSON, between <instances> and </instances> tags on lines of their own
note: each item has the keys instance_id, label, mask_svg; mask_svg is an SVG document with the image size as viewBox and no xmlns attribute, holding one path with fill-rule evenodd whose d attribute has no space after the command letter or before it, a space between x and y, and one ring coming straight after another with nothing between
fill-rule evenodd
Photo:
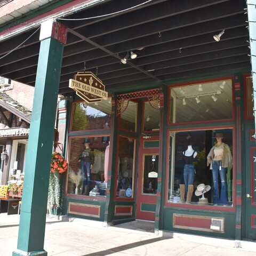
<instances>
[{"instance_id":1,"label":"tall green wooden porch column with white and red top","mask_svg":"<svg viewBox=\"0 0 256 256\"><path fill-rule=\"evenodd\" d=\"M12 255L47 255L44 250L55 113L67 29L54 20L41 25L17 250Z\"/></svg>"}]
</instances>

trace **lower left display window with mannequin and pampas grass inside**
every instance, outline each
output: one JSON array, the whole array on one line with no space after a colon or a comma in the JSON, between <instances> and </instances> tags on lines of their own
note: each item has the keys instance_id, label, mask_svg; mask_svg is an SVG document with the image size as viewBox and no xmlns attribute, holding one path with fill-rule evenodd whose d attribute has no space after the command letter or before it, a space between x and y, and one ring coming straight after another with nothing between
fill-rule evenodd
<instances>
[{"instance_id":1,"label":"lower left display window with mannequin and pampas grass inside","mask_svg":"<svg viewBox=\"0 0 256 256\"><path fill-rule=\"evenodd\" d=\"M106 196L109 136L69 139L67 194Z\"/></svg>"}]
</instances>

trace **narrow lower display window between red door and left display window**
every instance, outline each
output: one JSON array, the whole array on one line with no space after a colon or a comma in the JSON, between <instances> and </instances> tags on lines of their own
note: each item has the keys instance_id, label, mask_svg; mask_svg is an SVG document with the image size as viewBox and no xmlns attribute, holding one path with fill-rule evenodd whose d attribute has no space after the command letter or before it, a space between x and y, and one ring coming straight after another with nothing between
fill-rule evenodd
<instances>
[{"instance_id":1,"label":"narrow lower display window between red door and left display window","mask_svg":"<svg viewBox=\"0 0 256 256\"><path fill-rule=\"evenodd\" d=\"M118 136L116 197L133 198L136 140Z\"/></svg>"}]
</instances>

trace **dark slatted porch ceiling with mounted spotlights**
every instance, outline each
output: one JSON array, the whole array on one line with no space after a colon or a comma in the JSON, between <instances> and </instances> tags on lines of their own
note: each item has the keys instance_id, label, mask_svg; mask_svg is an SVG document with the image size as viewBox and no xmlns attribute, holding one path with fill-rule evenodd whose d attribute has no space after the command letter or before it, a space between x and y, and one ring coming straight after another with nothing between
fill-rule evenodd
<instances>
[{"instance_id":1,"label":"dark slatted porch ceiling with mounted spotlights","mask_svg":"<svg viewBox=\"0 0 256 256\"><path fill-rule=\"evenodd\" d=\"M60 90L73 94L68 81L78 71L97 73L106 89L250 67L244 0L111 0L58 20L68 27ZM129 10L127 10L129 9ZM121 10L123 12L116 13ZM97 19L77 20L116 13ZM0 57L37 28L0 43ZM220 42L213 35L225 29ZM35 85L39 30L0 60L0 76ZM143 47L143 50L137 50ZM138 57L120 63L127 52Z\"/></svg>"}]
</instances>

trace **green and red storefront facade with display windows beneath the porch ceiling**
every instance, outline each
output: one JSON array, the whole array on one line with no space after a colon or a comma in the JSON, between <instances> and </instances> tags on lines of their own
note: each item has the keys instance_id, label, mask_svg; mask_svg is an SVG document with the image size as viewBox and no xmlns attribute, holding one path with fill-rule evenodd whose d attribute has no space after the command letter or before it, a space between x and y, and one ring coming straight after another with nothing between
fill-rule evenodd
<instances>
[{"instance_id":1,"label":"green and red storefront facade with display windows beneath the porch ceiling","mask_svg":"<svg viewBox=\"0 0 256 256\"><path fill-rule=\"evenodd\" d=\"M109 98L97 105L75 101L68 133L70 167L75 172L82 170L79 155L84 141L89 141L95 157L89 186L81 182L75 195L74 183L67 179L63 213L107 225L142 219L155 221L156 230L254 239L255 206L250 197L244 198L243 205L241 193L244 179L246 194L252 195L255 187L250 178L254 165L251 89L250 75L241 73L160 89L116 92L112 95L115 101ZM233 157L226 170L226 203L214 202L213 175L207 166L217 133L222 133ZM193 184L191 202L181 203L180 185L186 184L183 153L189 145L197 152L195 175L189 182ZM248 168L250 172L242 171ZM209 185L205 200L203 194L195 195L202 183ZM89 191L84 187L90 187ZM90 194L94 187L99 194ZM219 196L221 189L220 183Z\"/></svg>"}]
</instances>

